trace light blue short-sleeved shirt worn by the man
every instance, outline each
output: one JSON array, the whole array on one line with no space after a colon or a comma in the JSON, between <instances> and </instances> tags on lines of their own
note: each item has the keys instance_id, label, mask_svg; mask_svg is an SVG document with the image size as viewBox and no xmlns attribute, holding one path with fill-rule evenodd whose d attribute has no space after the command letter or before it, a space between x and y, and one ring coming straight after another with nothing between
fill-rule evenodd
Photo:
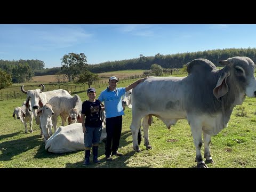
<instances>
[{"instance_id":1,"label":"light blue short-sleeved shirt worn by the man","mask_svg":"<svg viewBox=\"0 0 256 192\"><path fill-rule=\"evenodd\" d=\"M125 87L116 88L114 91L110 91L107 87L100 93L98 100L104 102L106 118L124 115L122 106L122 95L124 94Z\"/></svg>"}]
</instances>

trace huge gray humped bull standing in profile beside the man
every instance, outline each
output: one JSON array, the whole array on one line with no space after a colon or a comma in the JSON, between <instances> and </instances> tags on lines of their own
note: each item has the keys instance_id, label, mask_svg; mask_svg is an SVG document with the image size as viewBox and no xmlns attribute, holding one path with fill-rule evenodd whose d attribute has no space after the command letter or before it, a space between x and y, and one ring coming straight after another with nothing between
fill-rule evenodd
<instances>
[{"instance_id":1,"label":"huge gray humped bull standing in profile beside the man","mask_svg":"<svg viewBox=\"0 0 256 192\"><path fill-rule=\"evenodd\" d=\"M220 61L217 69L207 59L195 59L188 66L187 77L148 77L132 91L133 149L140 151L137 137L143 119L145 146L148 138L148 118L154 115L170 129L178 119L187 119L196 147L198 167L207 167L201 155L202 133L206 163L213 163L209 143L211 135L227 127L236 105L247 97L256 97L254 62L247 57ZM143 93L143 94L142 94Z\"/></svg>"}]
</instances>

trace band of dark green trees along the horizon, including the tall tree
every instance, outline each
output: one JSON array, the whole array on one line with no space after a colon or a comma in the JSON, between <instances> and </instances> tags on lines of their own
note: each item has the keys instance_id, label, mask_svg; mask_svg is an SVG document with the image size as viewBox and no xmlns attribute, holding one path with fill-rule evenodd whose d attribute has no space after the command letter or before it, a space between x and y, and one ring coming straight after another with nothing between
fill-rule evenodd
<instances>
[{"instance_id":1,"label":"band of dark green trees along the horizon, including the tall tree","mask_svg":"<svg viewBox=\"0 0 256 192\"><path fill-rule=\"evenodd\" d=\"M177 53L163 55L157 53L155 56L145 57L142 54L139 58L107 61L99 64L88 64L84 53L68 53L60 58L61 67L50 69L44 68L44 61L40 60L0 60L0 70L11 76L12 83L21 83L29 81L35 75L54 75L66 74L68 81L75 83L86 83L90 86L92 82L98 81L99 77L96 73L104 73L117 70L145 69L148 70L152 65L158 65L162 68L183 68L188 62L197 59L205 58L212 61L216 66L219 66L218 61L226 60L235 56L245 56L256 61L256 48L241 48L241 49L216 49L207 51ZM2 72L2 73L3 73ZM4 77L9 77L4 74ZM3 81L3 79L1 80ZM2 83L2 82L0 82ZM10 82L9 82L10 83ZM5 84L9 84L5 83Z\"/></svg>"}]
</instances>

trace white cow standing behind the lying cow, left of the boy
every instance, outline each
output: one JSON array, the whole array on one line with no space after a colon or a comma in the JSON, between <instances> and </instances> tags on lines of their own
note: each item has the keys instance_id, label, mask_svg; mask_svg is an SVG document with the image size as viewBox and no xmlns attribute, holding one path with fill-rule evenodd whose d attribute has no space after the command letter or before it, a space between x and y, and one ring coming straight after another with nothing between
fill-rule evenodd
<instances>
[{"instance_id":1,"label":"white cow standing behind the lying cow, left of the boy","mask_svg":"<svg viewBox=\"0 0 256 192\"><path fill-rule=\"evenodd\" d=\"M58 116L61 116L62 126L65 125L67 118L70 118L69 124L76 123L77 121L82 123L82 101L77 94L75 94L74 97L69 95L58 95L51 98L48 103L52 106L52 110L55 113L55 115L52 116L54 132L57 130Z\"/></svg>"}]
</instances>

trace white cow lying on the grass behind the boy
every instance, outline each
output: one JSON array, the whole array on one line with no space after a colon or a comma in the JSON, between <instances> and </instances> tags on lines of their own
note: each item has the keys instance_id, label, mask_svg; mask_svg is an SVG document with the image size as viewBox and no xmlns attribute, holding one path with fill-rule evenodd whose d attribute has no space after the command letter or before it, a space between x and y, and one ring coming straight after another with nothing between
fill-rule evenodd
<instances>
[{"instance_id":1,"label":"white cow lying on the grass behind the boy","mask_svg":"<svg viewBox=\"0 0 256 192\"><path fill-rule=\"evenodd\" d=\"M102 126L100 142L106 138L106 128ZM82 123L60 126L57 132L55 132L45 143L45 150L51 153L66 153L84 149Z\"/></svg>"}]
</instances>

